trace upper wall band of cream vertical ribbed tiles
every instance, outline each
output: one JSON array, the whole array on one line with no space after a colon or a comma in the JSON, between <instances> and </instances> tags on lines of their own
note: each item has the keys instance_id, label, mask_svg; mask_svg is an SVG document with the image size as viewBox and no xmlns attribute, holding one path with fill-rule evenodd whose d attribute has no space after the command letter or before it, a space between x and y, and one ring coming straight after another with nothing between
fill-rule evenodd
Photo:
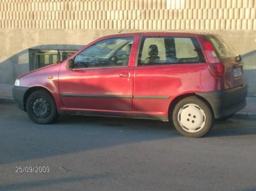
<instances>
[{"instance_id":1,"label":"upper wall band of cream vertical ribbed tiles","mask_svg":"<svg viewBox=\"0 0 256 191\"><path fill-rule=\"evenodd\" d=\"M2 0L0 28L256 29L255 0Z\"/></svg>"}]
</instances>

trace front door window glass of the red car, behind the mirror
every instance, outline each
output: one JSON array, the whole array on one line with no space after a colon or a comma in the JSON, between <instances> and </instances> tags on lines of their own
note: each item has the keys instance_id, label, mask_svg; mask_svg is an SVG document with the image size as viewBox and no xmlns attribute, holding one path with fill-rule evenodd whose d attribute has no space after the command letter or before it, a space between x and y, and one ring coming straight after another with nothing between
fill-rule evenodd
<instances>
[{"instance_id":1,"label":"front door window glass of the red car, behind the mirror","mask_svg":"<svg viewBox=\"0 0 256 191\"><path fill-rule=\"evenodd\" d=\"M134 37L98 41L75 57L75 68L127 66Z\"/></svg>"}]
</instances>

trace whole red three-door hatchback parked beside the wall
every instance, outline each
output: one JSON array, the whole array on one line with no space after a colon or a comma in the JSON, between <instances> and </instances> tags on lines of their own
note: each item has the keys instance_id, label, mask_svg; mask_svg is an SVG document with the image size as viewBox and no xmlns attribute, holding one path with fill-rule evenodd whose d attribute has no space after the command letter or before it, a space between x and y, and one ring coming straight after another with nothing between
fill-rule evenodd
<instances>
[{"instance_id":1,"label":"whole red three-door hatchback parked beside the wall","mask_svg":"<svg viewBox=\"0 0 256 191\"><path fill-rule=\"evenodd\" d=\"M188 137L240 111L246 94L241 57L225 40L169 32L101 37L19 77L13 89L38 124L62 113L172 120Z\"/></svg>"}]
</instances>

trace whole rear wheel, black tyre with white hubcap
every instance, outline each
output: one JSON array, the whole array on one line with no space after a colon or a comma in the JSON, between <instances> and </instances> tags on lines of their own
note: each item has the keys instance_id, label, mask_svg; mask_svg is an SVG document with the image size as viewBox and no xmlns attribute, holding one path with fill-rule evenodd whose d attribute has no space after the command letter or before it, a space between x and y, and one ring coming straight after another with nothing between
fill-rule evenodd
<instances>
[{"instance_id":1,"label":"whole rear wheel, black tyre with white hubcap","mask_svg":"<svg viewBox=\"0 0 256 191\"><path fill-rule=\"evenodd\" d=\"M195 113L198 113L196 113L195 115L193 113L191 114L188 110L188 107L195 109ZM185 111L185 109L187 109L187 111ZM196 118L196 116L198 117ZM212 128L214 123L214 117L212 110L210 109L207 103L197 98L196 96L191 96L180 100L175 105L174 111L172 112L172 121L174 122L176 130L181 135L184 135L185 137L203 137ZM182 121L184 122L185 125L187 125L187 127L183 125ZM199 127L197 127L196 129L191 130L190 128L193 126L193 124L191 124L191 127L189 127L190 122L193 122L195 124L198 123L201 125L199 125ZM180 123L182 126L180 125Z\"/></svg>"}]
</instances>

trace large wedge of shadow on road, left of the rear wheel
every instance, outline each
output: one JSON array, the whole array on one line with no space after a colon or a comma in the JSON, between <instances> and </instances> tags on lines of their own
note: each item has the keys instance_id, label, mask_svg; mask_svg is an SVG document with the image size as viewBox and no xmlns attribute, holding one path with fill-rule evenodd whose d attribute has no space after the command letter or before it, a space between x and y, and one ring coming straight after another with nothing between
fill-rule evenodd
<instances>
[{"instance_id":1,"label":"large wedge of shadow on road, left of the rear wheel","mask_svg":"<svg viewBox=\"0 0 256 191\"><path fill-rule=\"evenodd\" d=\"M0 121L1 165L180 137L170 122L156 120L63 115L39 125L7 103L0 105Z\"/></svg>"}]
</instances>

